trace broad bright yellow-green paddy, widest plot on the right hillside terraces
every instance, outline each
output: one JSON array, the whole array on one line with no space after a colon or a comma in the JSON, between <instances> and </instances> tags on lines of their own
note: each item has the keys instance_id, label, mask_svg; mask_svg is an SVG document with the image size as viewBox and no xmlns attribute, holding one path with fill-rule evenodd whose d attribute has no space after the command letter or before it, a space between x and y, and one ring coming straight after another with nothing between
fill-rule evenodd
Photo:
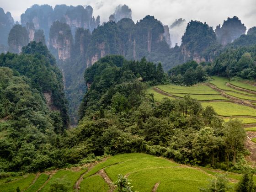
<instances>
[{"instance_id":1,"label":"broad bright yellow-green paddy, widest plot on the right hillside terraces","mask_svg":"<svg viewBox=\"0 0 256 192\"><path fill-rule=\"evenodd\" d=\"M214 110L217 112L218 115L224 116L224 117L230 117L230 116L253 116L256 117L256 110L231 103L231 102L225 102L225 101L220 101L220 102L203 102L202 106L212 106Z\"/></svg>"}]
</instances>

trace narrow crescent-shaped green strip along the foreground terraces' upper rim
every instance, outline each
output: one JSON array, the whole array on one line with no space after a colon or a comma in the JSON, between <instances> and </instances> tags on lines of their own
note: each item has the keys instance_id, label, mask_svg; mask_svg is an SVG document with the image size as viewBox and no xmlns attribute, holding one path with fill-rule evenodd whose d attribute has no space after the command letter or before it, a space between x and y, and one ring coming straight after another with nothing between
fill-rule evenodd
<instances>
[{"instance_id":1,"label":"narrow crescent-shaped green strip along the foreground terraces' upper rim","mask_svg":"<svg viewBox=\"0 0 256 192\"><path fill-rule=\"evenodd\" d=\"M147 155L147 154L141 154L141 153L131 153L131 154L121 154L121 155L115 155L108 160L98 163L95 165L88 173L85 174L85 177L92 176L96 172L100 171L103 168L106 168L110 165L115 165L117 163L126 161L126 160L133 160L133 159L142 159L142 158L154 158L153 155Z\"/></svg>"}]
</instances>

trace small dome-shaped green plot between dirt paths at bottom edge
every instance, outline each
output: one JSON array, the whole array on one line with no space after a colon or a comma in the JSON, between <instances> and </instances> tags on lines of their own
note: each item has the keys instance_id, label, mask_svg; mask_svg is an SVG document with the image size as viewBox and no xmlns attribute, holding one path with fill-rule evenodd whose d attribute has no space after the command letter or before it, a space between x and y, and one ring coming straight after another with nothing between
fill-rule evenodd
<instances>
[{"instance_id":1,"label":"small dome-shaped green plot between dirt paths at bottom edge","mask_svg":"<svg viewBox=\"0 0 256 192\"><path fill-rule=\"evenodd\" d=\"M107 192L108 189L107 183L99 175L87 177L80 183L80 192Z\"/></svg>"}]
</instances>

